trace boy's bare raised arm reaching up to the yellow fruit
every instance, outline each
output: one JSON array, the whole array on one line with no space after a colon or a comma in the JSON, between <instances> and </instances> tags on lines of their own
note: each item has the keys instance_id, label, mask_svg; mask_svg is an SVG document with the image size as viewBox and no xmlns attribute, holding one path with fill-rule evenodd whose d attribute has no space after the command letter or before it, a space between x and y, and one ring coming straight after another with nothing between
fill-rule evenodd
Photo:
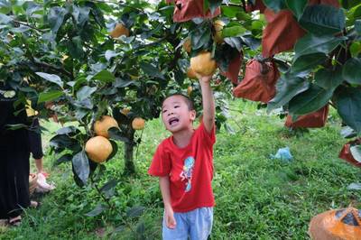
<instances>
[{"instance_id":1,"label":"boy's bare raised arm reaching up to the yellow fruit","mask_svg":"<svg viewBox=\"0 0 361 240\"><path fill-rule=\"evenodd\" d=\"M203 124L208 133L212 130L215 123L215 101L213 97L212 88L210 88L210 80L212 76L197 76L199 78L199 85L202 91L203 104Z\"/></svg>"}]
</instances>

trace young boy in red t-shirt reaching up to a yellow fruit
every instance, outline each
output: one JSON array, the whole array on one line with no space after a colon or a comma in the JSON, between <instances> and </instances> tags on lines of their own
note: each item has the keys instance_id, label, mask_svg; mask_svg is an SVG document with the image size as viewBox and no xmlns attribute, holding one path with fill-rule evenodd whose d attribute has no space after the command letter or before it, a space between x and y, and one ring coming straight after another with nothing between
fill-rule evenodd
<instances>
[{"instance_id":1,"label":"young boy in red t-shirt reaching up to a yellow fruit","mask_svg":"<svg viewBox=\"0 0 361 240\"><path fill-rule=\"evenodd\" d=\"M198 78L203 119L196 130L196 111L188 97L171 95L162 104L162 121L172 135L158 146L148 172L159 177L163 239L208 239L212 229L215 103L209 83L212 77Z\"/></svg>"}]
</instances>

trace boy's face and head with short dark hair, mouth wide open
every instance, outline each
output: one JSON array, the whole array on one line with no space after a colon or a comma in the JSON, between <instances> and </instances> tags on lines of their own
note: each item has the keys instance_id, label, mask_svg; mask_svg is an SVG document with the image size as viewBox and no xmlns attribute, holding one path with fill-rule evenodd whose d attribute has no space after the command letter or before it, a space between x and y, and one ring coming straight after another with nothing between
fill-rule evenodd
<instances>
[{"instance_id":1,"label":"boy's face and head with short dark hair, mouth wide open","mask_svg":"<svg viewBox=\"0 0 361 240\"><path fill-rule=\"evenodd\" d=\"M195 118L196 111L189 109L184 97L175 95L163 102L162 121L171 133L191 127Z\"/></svg>"}]
</instances>

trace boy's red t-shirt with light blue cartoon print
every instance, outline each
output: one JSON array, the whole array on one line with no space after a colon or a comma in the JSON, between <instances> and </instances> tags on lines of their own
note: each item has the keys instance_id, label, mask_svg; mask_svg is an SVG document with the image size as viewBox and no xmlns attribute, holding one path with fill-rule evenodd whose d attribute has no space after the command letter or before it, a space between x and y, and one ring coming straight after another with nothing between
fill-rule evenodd
<instances>
[{"instance_id":1,"label":"boy's red t-shirt with light blue cartoon print","mask_svg":"<svg viewBox=\"0 0 361 240\"><path fill-rule=\"evenodd\" d=\"M172 136L158 146L148 173L158 177L170 176L174 212L215 205L211 184L215 142L215 127L209 134L201 122L186 147L178 147Z\"/></svg>"}]
</instances>

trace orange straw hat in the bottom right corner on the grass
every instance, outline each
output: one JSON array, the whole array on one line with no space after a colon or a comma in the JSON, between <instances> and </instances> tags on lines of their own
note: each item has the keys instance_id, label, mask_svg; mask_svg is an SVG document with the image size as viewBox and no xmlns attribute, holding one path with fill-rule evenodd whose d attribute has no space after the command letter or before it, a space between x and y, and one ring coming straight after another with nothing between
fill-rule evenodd
<instances>
[{"instance_id":1,"label":"orange straw hat in the bottom right corner on the grass","mask_svg":"<svg viewBox=\"0 0 361 240\"><path fill-rule=\"evenodd\" d=\"M334 209L312 217L309 235L313 240L360 240L361 211Z\"/></svg>"}]
</instances>

